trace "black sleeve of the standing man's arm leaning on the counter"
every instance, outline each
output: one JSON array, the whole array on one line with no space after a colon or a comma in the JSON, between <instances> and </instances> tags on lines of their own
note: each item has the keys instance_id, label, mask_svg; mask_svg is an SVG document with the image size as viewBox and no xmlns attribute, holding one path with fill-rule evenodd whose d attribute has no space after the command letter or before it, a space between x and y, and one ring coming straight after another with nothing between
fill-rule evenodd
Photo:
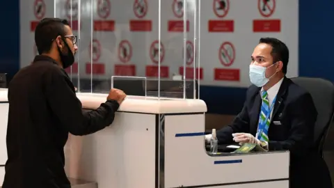
<instances>
[{"instance_id":1,"label":"black sleeve of the standing man's arm leaning on the counter","mask_svg":"<svg viewBox=\"0 0 334 188\"><path fill-rule=\"evenodd\" d=\"M106 101L99 108L84 112L80 100L68 84L70 80L60 70L48 74L45 93L51 115L56 116L68 132L74 135L92 134L113 123L118 102Z\"/></svg>"}]
</instances>

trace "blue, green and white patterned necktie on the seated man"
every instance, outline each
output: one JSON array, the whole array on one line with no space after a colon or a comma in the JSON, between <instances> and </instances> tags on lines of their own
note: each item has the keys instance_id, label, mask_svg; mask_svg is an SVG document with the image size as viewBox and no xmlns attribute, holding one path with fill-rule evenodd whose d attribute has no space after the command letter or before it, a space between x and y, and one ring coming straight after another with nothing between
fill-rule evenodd
<instances>
[{"instance_id":1,"label":"blue, green and white patterned necktie on the seated man","mask_svg":"<svg viewBox=\"0 0 334 188\"><path fill-rule=\"evenodd\" d=\"M257 134L257 139L260 141L269 141L268 130L270 125L270 113L269 100L267 91L261 92L262 106L259 120L259 132Z\"/></svg>"}]
</instances>

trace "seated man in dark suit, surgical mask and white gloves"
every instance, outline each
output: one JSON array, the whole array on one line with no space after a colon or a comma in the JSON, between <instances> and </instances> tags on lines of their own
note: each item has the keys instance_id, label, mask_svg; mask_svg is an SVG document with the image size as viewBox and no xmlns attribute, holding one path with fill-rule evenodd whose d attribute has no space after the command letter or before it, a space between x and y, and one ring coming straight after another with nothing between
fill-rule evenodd
<instances>
[{"instance_id":1,"label":"seated man in dark suit, surgical mask and white gloves","mask_svg":"<svg viewBox=\"0 0 334 188\"><path fill-rule=\"evenodd\" d=\"M257 143L267 150L289 150L290 184L332 187L328 169L314 146L317 109L308 91L285 77L289 49L276 38L261 38L251 56L253 84L232 125L217 131L219 143ZM211 134L205 136L209 141Z\"/></svg>"}]
</instances>

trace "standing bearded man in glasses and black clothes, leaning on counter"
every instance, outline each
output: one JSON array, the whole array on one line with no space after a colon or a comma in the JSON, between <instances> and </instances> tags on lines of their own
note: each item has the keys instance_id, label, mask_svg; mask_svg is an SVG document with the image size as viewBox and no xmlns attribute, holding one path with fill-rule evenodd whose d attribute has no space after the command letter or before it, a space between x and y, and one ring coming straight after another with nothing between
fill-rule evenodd
<instances>
[{"instance_id":1,"label":"standing bearded man in glasses and black clothes, leaning on counter","mask_svg":"<svg viewBox=\"0 0 334 188\"><path fill-rule=\"evenodd\" d=\"M92 134L111 125L125 93L84 112L65 68L74 63L77 37L66 20L45 18L35 29L40 55L8 87L6 175L3 188L70 188L63 148L68 133Z\"/></svg>"}]
</instances>

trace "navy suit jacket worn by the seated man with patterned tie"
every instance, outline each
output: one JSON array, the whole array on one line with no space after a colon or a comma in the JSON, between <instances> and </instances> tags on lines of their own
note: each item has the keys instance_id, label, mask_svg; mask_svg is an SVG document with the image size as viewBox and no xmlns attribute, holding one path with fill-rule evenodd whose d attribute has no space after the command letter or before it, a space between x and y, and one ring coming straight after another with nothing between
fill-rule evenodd
<instances>
[{"instance_id":1,"label":"navy suit jacket worn by the seated man with patterned tie","mask_svg":"<svg viewBox=\"0 0 334 188\"><path fill-rule=\"evenodd\" d=\"M218 130L219 143L232 142L232 133L257 132L261 88L250 86L243 109L231 125ZM289 150L292 155L304 155L313 148L313 136L317 109L308 91L284 78L278 91L271 124L269 125L269 150ZM273 122L279 121L280 125Z\"/></svg>"}]
</instances>

